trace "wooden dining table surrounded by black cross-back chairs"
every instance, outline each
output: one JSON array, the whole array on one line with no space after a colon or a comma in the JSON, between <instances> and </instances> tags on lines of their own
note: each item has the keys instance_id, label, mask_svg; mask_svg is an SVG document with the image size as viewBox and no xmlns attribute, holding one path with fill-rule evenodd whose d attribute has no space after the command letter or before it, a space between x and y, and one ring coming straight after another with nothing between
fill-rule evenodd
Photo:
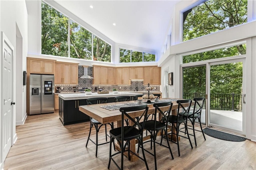
<instances>
[{"instance_id":1,"label":"wooden dining table surrounded by black cross-back chairs","mask_svg":"<svg viewBox=\"0 0 256 170\"><path fill-rule=\"evenodd\" d=\"M172 100L172 115L177 115L177 109L178 109L178 103L176 103L175 99L171 99L171 98L161 98L160 102L163 100ZM178 99L176 99L178 100ZM145 100L147 101L147 100ZM148 115L150 114L154 114L155 113L155 108L153 107L154 103L145 103L145 101L142 104L147 104L148 105ZM115 103L102 103L102 104L96 104L96 105L82 105L79 106L79 111L81 111L82 113L88 115L89 117L96 119L97 121L99 121L102 124L106 124L106 123L111 123L111 122L117 122L117 127L121 127L122 126L122 113L119 111L119 109L116 110L108 110L108 109L104 109L102 108L102 106L110 106L110 105L120 105L120 104L124 104L124 103L137 103L137 101L124 101L124 102L115 102ZM167 107L161 107L162 111L167 111L169 109L169 106ZM129 113L129 115L132 118L135 117L139 117L141 116L141 111L136 111L136 112L131 112ZM132 122L132 121L130 121ZM173 138L173 140L176 140L175 136L171 136ZM150 136L145 136L143 138L143 140L146 140L150 138ZM136 140L131 140L130 142L130 149L136 153ZM119 148L119 145L116 144L116 147ZM131 161L135 161L138 160L138 157L135 155L132 155L132 153L130 152L130 158Z\"/></svg>"}]
</instances>

